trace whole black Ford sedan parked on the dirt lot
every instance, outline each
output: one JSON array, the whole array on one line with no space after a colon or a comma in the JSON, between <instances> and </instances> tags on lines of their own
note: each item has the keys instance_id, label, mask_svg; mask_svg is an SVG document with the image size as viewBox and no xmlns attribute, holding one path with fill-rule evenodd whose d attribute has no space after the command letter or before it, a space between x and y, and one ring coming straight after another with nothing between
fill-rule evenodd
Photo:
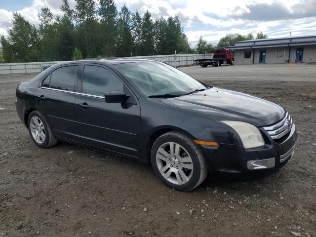
<instances>
[{"instance_id":1,"label":"whole black Ford sedan parked on the dirt lot","mask_svg":"<svg viewBox=\"0 0 316 237\"><path fill-rule=\"evenodd\" d=\"M18 85L16 110L40 148L66 141L151 162L181 191L209 170L281 169L297 139L281 106L151 60L56 64Z\"/></svg>"}]
</instances>

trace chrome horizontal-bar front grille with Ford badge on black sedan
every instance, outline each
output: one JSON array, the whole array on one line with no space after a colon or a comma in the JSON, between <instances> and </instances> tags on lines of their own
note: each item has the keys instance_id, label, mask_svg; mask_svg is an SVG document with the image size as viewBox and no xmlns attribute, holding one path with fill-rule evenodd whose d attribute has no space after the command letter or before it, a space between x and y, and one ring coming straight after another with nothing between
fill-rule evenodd
<instances>
[{"instance_id":1,"label":"chrome horizontal-bar front grille with Ford badge on black sedan","mask_svg":"<svg viewBox=\"0 0 316 237\"><path fill-rule=\"evenodd\" d=\"M290 115L286 112L285 117L277 122L274 125L263 127L269 135L272 137L272 139L276 140L283 136L285 136L292 128L293 121Z\"/></svg>"}]
</instances>

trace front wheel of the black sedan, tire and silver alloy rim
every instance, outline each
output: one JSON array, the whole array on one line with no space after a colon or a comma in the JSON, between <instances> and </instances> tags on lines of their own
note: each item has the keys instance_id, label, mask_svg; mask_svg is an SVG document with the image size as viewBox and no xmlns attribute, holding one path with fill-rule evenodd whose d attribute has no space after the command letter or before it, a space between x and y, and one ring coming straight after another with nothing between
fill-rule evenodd
<instances>
[{"instance_id":1,"label":"front wheel of the black sedan, tire and silver alloy rim","mask_svg":"<svg viewBox=\"0 0 316 237\"><path fill-rule=\"evenodd\" d=\"M199 147L192 138L176 131L158 137L152 147L151 162L161 181L178 191L195 189L208 174Z\"/></svg>"}]
</instances>

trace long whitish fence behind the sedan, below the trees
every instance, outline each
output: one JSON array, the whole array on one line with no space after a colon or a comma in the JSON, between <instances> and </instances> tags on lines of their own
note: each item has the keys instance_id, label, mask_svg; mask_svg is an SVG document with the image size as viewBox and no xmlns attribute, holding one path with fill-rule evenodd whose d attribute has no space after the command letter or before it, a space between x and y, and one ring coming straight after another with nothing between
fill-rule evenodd
<instances>
[{"instance_id":1,"label":"long whitish fence behind the sedan, below the trees","mask_svg":"<svg viewBox=\"0 0 316 237\"><path fill-rule=\"evenodd\" d=\"M185 67L194 65L194 60L198 58L212 58L213 54L177 54L177 55L153 55L137 56L133 58L151 59L167 63L173 67ZM131 58L131 57L126 57ZM56 62L35 62L35 63L1 63L0 74L21 74L21 73L40 73L45 66L51 66Z\"/></svg>"}]
</instances>

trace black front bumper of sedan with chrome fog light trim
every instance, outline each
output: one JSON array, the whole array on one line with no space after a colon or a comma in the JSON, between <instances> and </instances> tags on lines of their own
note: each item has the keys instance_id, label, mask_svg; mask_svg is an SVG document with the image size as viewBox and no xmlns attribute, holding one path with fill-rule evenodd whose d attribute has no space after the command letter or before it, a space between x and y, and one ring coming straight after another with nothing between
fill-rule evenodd
<instances>
[{"instance_id":1,"label":"black front bumper of sedan with chrome fog light trim","mask_svg":"<svg viewBox=\"0 0 316 237\"><path fill-rule=\"evenodd\" d=\"M296 140L296 127L293 124L289 136L280 144L266 134L266 145L262 148L244 149L242 145L219 144L213 149L204 147L203 153L214 171L240 173L282 169L293 157Z\"/></svg>"}]
</instances>

